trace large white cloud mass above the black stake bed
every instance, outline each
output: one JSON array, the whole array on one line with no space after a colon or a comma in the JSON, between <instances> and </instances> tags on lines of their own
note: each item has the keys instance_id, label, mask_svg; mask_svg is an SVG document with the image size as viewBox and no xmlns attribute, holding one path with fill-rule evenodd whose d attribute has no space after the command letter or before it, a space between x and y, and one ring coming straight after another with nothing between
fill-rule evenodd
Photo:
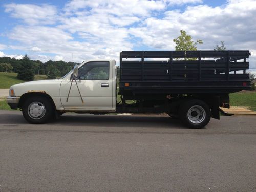
<instances>
[{"instance_id":1,"label":"large white cloud mass above the black stake bed","mask_svg":"<svg viewBox=\"0 0 256 192\"><path fill-rule=\"evenodd\" d=\"M165 12L161 19L146 18L142 25L131 27L129 33L141 38L143 44L153 49L173 50L173 39L185 30L194 40L202 39L199 49L214 49L225 41L228 49L255 50L256 45L255 1L230 1L226 6L189 6L184 12ZM250 67L256 69L254 55Z\"/></svg>"}]
</instances>

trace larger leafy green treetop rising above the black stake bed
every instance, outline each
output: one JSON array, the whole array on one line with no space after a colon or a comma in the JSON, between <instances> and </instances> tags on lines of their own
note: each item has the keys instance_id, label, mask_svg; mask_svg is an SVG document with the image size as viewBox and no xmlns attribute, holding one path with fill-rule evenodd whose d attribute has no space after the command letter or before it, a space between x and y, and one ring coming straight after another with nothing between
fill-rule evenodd
<instances>
[{"instance_id":1,"label":"larger leafy green treetop rising above the black stake bed","mask_svg":"<svg viewBox=\"0 0 256 192\"><path fill-rule=\"evenodd\" d=\"M180 36L173 39L175 42L176 51L196 51L197 44L203 44L202 40L197 40L194 42L190 35L187 35L186 31L180 30ZM196 58L185 58L185 60L196 60Z\"/></svg>"}]
</instances>

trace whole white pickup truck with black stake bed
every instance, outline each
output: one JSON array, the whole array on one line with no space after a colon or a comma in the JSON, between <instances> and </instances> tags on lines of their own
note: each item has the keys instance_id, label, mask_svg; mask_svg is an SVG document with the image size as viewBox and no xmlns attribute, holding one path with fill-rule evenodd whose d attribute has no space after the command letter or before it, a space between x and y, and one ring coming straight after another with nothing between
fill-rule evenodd
<instances>
[{"instance_id":1,"label":"whole white pickup truck with black stake bed","mask_svg":"<svg viewBox=\"0 0 256 192\"><path fill-rule=\"evenodd\" d=\"M173 61L188 55L198 59ZM201 61L201 56L218 55L222 59ZM244 62L232 61L232 55ZM220 118L219 106L229 105L228 93L250 88L245 74L248 57L248 51L123 51L119 103L116 61L108 59L75 65L61 79L15 84L10 87L7 103L12 109L22 110L30 123L45 123L65 112L165 112L189 127L202 128L211 117ZM244 74L229 74L229 71L223 74L227 68L244 70Z\"/></svg>"}]
</instances>

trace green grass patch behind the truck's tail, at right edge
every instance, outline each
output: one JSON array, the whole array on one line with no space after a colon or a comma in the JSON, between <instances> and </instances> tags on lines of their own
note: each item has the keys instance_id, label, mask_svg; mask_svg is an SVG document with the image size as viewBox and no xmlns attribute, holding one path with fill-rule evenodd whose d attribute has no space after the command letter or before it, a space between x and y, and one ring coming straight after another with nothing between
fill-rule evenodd
<instances>
[{"instance_id":1,"label":"green grass patch behind the truck's tail, at right edge","mask_svg":"<svg viewBox=\"0 0 256 192\"><path fill-rule=\"evenodd\" d=\"M229 94L231 106L250 106L256 108L256 92L244 91Z\"/></svg>"}]
</instances>

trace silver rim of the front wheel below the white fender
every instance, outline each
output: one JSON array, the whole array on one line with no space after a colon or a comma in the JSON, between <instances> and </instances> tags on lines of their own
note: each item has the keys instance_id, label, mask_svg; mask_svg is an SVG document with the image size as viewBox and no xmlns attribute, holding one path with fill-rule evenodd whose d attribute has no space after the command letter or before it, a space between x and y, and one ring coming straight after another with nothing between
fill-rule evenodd
<instances>
[{"instance_id":1,"label":"silver rim of the front wheel below the white fender","mask_svg":"<svg viewBox=\"0 0 256 192\"><path fill-rule=\"evenodd\" d=\"M41 119L46 114L45 105L40 102L32 102L28 107L28 114L32 119Z\"/></svg>"}]
</instances>

